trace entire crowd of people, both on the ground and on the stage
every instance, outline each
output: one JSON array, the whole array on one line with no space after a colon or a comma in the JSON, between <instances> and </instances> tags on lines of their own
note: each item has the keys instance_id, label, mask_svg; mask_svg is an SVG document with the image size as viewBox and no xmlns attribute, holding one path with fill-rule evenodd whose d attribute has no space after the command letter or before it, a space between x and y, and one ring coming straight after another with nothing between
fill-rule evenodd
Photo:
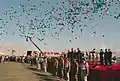
<instances>
[{"instance_id":1,"label":"entire crowd of people, both on the ground and on the stage","mask_svg":"<svg viewBox=\"0 0 120 81\"><path fill-rule=\"evenodd\" d=\"M89 64L92 68L99 65L111 67L112 52L110 49L100 49L96 52L82 52L79 48L68 50L59 57L42 57L41 54L28 56L0 56L0 63L3 61L14 61L35 65L37 69L51 73L54 77L66 81L86 81L89 75Z\"/></svg>"}]
</instances>

